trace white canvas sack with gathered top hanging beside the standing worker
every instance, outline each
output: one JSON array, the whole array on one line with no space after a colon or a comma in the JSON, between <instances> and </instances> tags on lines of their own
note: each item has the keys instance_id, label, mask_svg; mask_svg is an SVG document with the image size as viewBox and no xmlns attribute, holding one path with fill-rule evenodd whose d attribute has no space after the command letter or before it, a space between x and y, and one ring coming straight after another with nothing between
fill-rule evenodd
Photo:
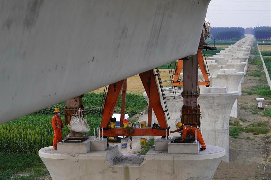
<instances>
[{"instance_id":1,"label":"white canvas sack with gathered top hanging beside the standing worker","mask_svg":"<svg viewBox=\"0 0 271 180\"><path fill-rule=\"evenodd\" d=\"M80 116L81 114L81 116ZM68 125L71 131L83 133L90 131L90 126L87 124L87 119L83 118L83 113L81 108L79 108L78 113L71 118L70 124Z\"/></svg>"}]
</instances>

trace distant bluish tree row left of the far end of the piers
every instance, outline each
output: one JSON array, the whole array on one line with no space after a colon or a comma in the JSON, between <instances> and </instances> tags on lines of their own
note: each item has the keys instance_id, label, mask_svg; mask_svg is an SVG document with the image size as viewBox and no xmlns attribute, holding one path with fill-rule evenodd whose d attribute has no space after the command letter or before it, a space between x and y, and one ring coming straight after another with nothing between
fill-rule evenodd
<instances>
[{"instance_id":1,"label":"distant bluish tree row left of the far end of the piers","mask_svg":"<svg viewBox=\"0 0 271 180\"><path fill-rule=\"evenodd\" d=\"M241 27L216 27L211 28L211 37L219 40L231 40L244 36L244 28Z\"/></svg>"}]
</instances>

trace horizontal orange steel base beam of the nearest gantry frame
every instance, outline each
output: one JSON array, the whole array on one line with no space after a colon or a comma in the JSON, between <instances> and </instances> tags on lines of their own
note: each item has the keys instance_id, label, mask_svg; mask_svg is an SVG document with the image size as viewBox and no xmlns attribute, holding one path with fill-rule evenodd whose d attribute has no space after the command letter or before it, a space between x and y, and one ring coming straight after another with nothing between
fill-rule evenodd
<instances>
[{"instance_id":1,"label":"horizontal orange steel base beam of the nearest gantry frame","mask_svg":"<svg viewBox=\"0 0 271 180\"><path fill-rule=\"evenodd\" d=\"M169 129L167 130L167 134L169 134ZM129 135L130 134L128 129L123 128L103 129L103 136L129 136ZM135 128L132 133L132 136L165 136L165 128L159 129Z\"/></svg>"}]
</instances>

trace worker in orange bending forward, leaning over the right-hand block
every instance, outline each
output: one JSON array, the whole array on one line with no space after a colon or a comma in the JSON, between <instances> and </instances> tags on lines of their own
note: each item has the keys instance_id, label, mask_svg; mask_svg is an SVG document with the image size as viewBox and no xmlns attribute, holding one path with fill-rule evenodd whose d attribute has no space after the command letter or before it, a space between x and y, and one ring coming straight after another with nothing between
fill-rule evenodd
<instances>
[{"instance_id":1,"label":"worker in orange bending forward, leaning over the right-hand block","mask_svg":"<svg viewBox=\"0 0 271 180\"><path fill-rule=\"evenodd\" d=\"M177 123L177 127L178 127L178 129L176 129L175 131L170 131L170 133L176 133L179 131L183 131L182 141L184 140L186 134L190 134L192 137L195 137L196 129L197 129L197 140L200 142L200 145L201 145L200 151L203 151L206 149L206 145L203 141L202 135L201 135L200 130L198 128L195 128L193 126L183 125L183 123L181 123L181 122Z\"/></svg>"}]
</instances>

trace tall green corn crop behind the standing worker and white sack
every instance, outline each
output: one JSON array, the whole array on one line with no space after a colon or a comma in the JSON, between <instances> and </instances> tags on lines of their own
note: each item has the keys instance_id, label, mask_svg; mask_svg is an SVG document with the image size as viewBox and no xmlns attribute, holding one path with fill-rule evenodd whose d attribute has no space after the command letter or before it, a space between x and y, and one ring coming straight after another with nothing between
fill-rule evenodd
<instances>
[{"instance_id":1,"label":"tall green corn crop behind the standing worker and white sack","mask_svg":"<svg viewBox=\"0 0 271 180\"><path fill-rule=\"evenodd\" d=\"M90 125L89 136L93 135L93 128L101 123L101 119L85 117ZM31 114L11 122L0 125L0 152L4 153L38 153L39 149L52 146L53 128L52 115ZM64 116L61 115L64 124ZM63 127L62 136L66 136L70 130Z\"/></svg>"}]
</instances>

